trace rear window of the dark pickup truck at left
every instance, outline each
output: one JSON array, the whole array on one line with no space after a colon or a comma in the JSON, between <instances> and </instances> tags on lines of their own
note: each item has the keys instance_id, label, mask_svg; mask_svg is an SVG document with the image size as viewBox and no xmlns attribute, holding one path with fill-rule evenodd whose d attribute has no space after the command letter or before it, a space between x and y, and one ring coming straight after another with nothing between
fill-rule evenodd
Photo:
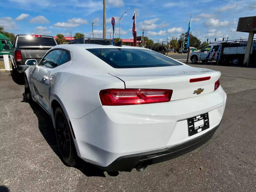
<instances>
[{"instance_id":1,"label":"rear window of the dark pickup truck at left","mask_svg":"<svg viewBox=\"0 0 256 192\"><path fill-rule=\"evenodd\" d=\"M19 36L17 46L55 46L53 37Z\"/></svg>"}]
</instances>

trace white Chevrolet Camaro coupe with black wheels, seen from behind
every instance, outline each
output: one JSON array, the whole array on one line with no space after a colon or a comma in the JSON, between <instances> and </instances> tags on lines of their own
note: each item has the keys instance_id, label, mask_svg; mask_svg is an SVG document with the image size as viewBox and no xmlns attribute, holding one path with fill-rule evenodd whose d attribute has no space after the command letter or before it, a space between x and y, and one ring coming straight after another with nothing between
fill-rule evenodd
<instances>
[{"instance_id":1,"label":"white Chevrolet Camaro coupe with black wheels, seen from behind","mask_svg":"<svg viewBox=\"0 0 256 192\"><path fill-rule=\"evenodd\" d=\"M27 60L25 93L52 118L64 162L141 171L211 139L227 95L220 72L149 49L64 44Z\"/></svg>"}]
</instances>

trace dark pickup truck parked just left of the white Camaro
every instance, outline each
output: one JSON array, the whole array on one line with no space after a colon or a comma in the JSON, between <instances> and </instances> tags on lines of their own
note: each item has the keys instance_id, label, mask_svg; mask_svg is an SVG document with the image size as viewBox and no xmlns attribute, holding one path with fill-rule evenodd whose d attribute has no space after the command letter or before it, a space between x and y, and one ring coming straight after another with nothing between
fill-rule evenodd
<instances>
[{"instance_id":1,"label":"dark pickup truck parked just left of the white Camaro","mask_svg":"<svg viewBox=\"0 0 256 192\"><path fill-rule=\"evenodd\" d=\"M53 36L17 35L11 52L13 74L24 73L28 68L25 65L26 60L36 59L39 62L45 53L55 45L57 42Z\"/></svg>"}]
</instances>

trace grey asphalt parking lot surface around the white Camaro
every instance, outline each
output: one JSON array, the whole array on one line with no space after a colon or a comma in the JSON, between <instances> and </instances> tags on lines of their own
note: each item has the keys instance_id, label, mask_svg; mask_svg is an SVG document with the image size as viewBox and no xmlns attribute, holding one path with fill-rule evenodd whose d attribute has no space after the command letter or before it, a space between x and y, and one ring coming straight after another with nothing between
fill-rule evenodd
<instances>
[{"instance_id":1,"label":"grey asphalt parking lot surface around the white Camaro","mask_svg":"<svg viewBox=\"0 0 256 192\"><path fill-rule=\"evenodd\" d=\"M182 61L183 62L183 61ZM23 100L24 82L0 74L0 192L2 191L255 191L256 68L191 65L222 73L223 120L212 139L143 172L68 167L59 158L50 117Z\"/></svg>"}]
</instances>

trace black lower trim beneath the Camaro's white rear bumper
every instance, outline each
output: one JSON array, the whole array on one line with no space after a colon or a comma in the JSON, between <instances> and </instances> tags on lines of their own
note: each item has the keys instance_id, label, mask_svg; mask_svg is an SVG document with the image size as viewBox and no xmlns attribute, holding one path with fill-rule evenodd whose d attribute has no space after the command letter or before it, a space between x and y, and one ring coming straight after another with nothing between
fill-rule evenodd
<instances>
[{"instance_id":1,"label":"black lower trim beneath the Camaro's white rear bumper","mask_svg":"<svg viewBox=\"0 0 256 192\"><path fill-rule=\"evenodd\" d=\"M200 135L199 137L196 137L185 143L182 143L170 148L121 156L121 157L118 157L113 163L111 163L107 167L102 167L102 166L97 166L97 167L107 172L113 172L113 171L130 172L132 171L133 168L136 167L136 165L142 162L144 162L147 165L151 165L151 164L156 164L156 163L173 159L175 157L186 154L200 147L207 141L209 141L219 126L220 124L215 126L210 131L204 133L203 135Z\"/></svg>"}]
</instances>

